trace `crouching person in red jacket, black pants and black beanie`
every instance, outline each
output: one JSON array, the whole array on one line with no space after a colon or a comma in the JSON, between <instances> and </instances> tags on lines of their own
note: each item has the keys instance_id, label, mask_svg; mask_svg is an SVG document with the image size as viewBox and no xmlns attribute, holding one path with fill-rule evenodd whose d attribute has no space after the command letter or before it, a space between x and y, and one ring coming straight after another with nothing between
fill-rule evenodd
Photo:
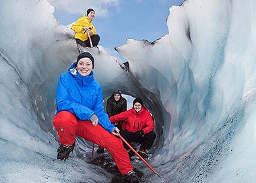
<instances>
[{"instance_id":1,"label":"crouching person in red jacket, black pants and black beanie","mask_svg":"<svg viewBox=\"0 0 256 183\"><path fill-rule=\"evenodd\" d=\"M152 147L156 139L154 133L154 120L150 112L143 106L141 98L133 100L133 108L110 116L109 120L112 123L125 120L120 135L128 142L137 142L140 144L139 155L143 158L148 158L147 149ZM123 143L125 149L129 153L129 147Z\"/></svg>"}]
</instances>

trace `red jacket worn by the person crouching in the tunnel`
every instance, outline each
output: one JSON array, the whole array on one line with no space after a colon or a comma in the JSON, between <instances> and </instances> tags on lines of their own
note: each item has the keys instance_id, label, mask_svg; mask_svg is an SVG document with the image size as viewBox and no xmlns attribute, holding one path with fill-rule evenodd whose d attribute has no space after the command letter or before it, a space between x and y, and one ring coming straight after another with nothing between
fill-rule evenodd
<instances>
[{"instance_id":1,"label":"red jacket worn by the person crouching in the tunnel","mask_svg":"<svg viewBox=\"0 0 256 183\"><path fill-rule=\"evenodd\" d=\"M123 123L122 129L125 129L131 133L143 130L143 134L150 133L154 130L154 121L150 112L142 106L139 112L136 112L134 108L131 108L125 112L121 112L114 116L110 116L109 120L112 123L126 120Z\"/></svg>"}]
</instances>

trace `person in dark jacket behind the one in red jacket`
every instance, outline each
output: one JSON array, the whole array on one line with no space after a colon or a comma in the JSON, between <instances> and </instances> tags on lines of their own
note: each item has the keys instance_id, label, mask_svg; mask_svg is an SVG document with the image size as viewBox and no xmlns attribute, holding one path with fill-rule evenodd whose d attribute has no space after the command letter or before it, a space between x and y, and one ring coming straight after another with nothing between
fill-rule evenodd
<instances>
[{"instance_id":1,"label":"person in dark jacket behind the one in red jacket","mask_svg":"<svg viewBox=\"0 0 256 183\"><path fill-rule=\"evenodd\" d=\"M127 110L127 100L123 98L122 92L117 89L106 101L106 114L108 114L108 116L110 117L115 114L119 114L120 112L124 112L126 110ZM119 121L116 124L117 124L117 128L119 128L120 130L123 124L123 121ZM104 148L98 147L97 152L104 153Z\"/></svg>"}]
</instances>

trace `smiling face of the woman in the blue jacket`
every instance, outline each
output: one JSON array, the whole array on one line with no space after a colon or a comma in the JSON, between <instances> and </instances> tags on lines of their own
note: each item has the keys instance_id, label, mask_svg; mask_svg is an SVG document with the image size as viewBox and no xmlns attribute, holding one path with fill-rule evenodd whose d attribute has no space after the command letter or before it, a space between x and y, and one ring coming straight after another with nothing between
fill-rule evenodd
<instances>
[{"instance_id":1,"label":"smiling face of the woman in the blue jacket","mask_svg":"<svg viewBox=\"0 0 256 183\"><path fill-rule=\"evenodd\" d=\"M80 59L77 63L77 71L82 76L88 76L92 72L92 61L84 57Z\"/></svg>"}]
</instances>

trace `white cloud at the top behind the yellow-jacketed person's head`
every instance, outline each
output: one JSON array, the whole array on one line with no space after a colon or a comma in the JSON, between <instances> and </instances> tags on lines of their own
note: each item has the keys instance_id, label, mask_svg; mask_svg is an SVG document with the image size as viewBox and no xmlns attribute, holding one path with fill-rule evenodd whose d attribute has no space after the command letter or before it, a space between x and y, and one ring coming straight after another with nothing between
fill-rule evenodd
<instances>
[{"instance_id":1,"label":"white cloud at the top behind the yellow-jacketed person's head","mask_svg":"<svg viewBox=\"0 0 256 183\"><path fill-rule=\"evenodd\" d=\"M119 6L120 0L49 0L58 10L66 11L69 14L84 14L88 8L93 8L97 16L108 15L108 7Z\"/></svg>"}]
</instances>

